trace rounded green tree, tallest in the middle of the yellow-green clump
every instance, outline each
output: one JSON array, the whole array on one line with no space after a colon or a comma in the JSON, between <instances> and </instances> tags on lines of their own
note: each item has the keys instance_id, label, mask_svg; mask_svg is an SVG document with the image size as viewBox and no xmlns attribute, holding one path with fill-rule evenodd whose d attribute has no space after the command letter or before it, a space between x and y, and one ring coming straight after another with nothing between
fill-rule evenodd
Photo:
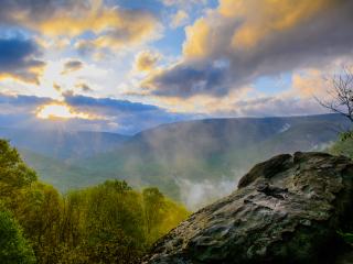
<instances>
[{"instance_id":1,"label":"rounded green tree, tallest in the middle of the yellow-green clump","mask_svg":"<svg viewBox=\"0 0 353 264\"><path fill-rule=\"evenodd\" d=\"M138 263L146 251L141 197L124 182L86 190L85 230L92 263Z\"/></svg>"}]
</instances>

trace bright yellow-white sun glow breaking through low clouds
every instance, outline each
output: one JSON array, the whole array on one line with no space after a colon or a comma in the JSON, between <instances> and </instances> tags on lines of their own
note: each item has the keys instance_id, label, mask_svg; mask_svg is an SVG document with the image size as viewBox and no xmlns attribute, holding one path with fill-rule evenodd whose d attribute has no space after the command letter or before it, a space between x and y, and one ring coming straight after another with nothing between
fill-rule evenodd
<instances>
[{"instance_id":1,"label":"bright yellow-white sun glow breaking through low clouds","mask_svg":"<svg viewBox=\"0 0 353 264\"><path fill-rule=\"evenodd\" d=\"M41 119L96 119L83 112L76 112L74 109L64 103L51 103L42 106L38 109L36 117Z\"/></svg>"}]
</instances>

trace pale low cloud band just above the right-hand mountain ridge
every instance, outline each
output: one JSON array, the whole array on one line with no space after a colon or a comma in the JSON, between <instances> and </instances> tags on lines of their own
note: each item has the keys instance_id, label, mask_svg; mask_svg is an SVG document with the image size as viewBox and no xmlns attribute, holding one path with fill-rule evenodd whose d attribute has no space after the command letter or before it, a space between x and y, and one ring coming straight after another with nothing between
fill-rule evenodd
<instances>
[{"instance_id":1,"label":"pale low cloud band just above the right-hand mountain ridge","mask_svg":"<svg viewBox=\"0 0 353 264\"><path fill-rule=\"evenodd\" d=\"M299 80L300 78L300 80ZM258 92L254 87L242 87L231 90L222 97L212 95L194 95L192 97L159 97L154 96L158 106L175 113L194 113L203 118L229 117L282 117L325 113L309 91L315 88L303 85L307 80L311 84L319 80L317 73L296 73L291 86L275 96ZM308 89L308 90L307 90ZM314 95L324 95L324 89L314 90Z\"/></svg>"}]
</instances>

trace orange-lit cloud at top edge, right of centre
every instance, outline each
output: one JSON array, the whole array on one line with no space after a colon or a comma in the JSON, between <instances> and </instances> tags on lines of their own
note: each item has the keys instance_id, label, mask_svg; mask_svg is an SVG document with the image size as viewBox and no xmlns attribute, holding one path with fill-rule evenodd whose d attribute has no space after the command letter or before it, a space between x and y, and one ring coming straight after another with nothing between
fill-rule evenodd
<instances>
[{"instance_id":1,"label":"orange-lit cloud at top edge, right of centre","mask_svg":"<svg viewBox=\"0 0 353 264\"><path fill-rule=\"evenodd\" d=\"M271 34L288 31L310 21L311 18L327 10L332 0L223 0L220 13L232 16L229 2L235 2L234 18L242 20L242 25L235 30L232 37L234 48L250 48L260 45L261 41ZM254 12L257 10L257 12Z\"/></svg>"}]
</instances>

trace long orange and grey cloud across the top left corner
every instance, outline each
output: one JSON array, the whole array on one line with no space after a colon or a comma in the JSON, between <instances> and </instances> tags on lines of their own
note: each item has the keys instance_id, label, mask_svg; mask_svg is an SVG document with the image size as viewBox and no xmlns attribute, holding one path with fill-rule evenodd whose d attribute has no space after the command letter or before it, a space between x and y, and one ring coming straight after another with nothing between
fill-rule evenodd
<instances>
[{"instance_id":1,"label":"long orange and grey cloud across the top left corner","mask_svg":"<svg viewBox=\"0 0 353 264\"><path fill-rule=\"evenodd\" d=\"M89 32L90 45L100 48L140 45L158 37L162 29L150 12L108 7L100 0L2 0L0 24L19 25L49 37L77 37Z\"/></svg>"}]
</instances>

